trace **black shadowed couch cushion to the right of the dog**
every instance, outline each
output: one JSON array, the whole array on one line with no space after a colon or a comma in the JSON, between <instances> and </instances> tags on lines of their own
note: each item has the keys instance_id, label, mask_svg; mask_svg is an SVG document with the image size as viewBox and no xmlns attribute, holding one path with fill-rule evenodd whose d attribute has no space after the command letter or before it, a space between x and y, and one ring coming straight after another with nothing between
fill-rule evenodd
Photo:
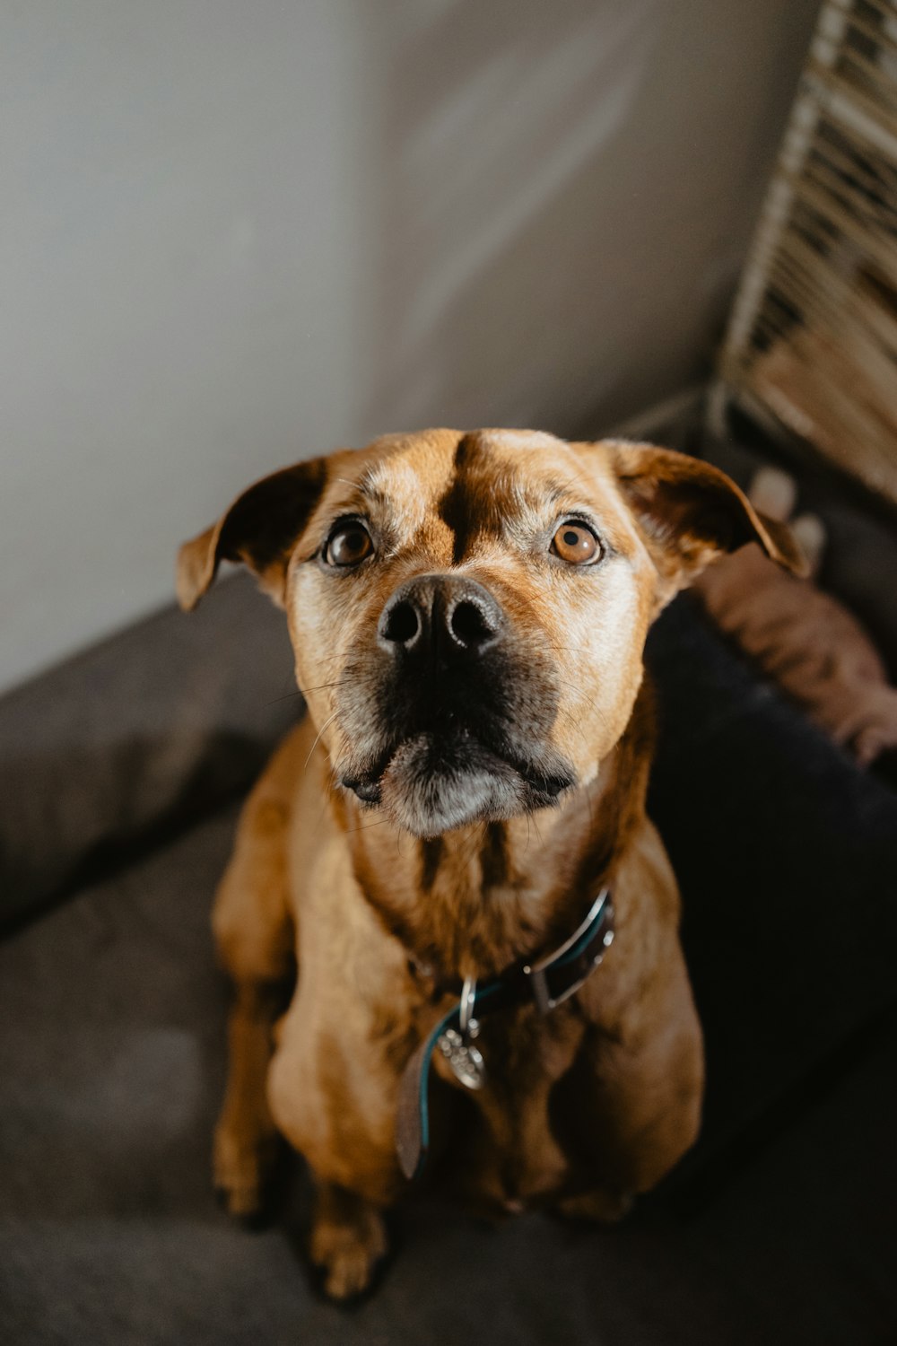
<instances>
[{"instance_id":1,"label":"black shadowed couch cushion to the right of the dog","mask_svg":"<svg viewBox=\"0 0 897 1346\"><path fill-rule=\"evenodd\" d=\"M897 793L757 678L689 595L655 625L648 662L648 806L713 1065L707 1164L893 1003Z\"/></svg>"}]
</instances>

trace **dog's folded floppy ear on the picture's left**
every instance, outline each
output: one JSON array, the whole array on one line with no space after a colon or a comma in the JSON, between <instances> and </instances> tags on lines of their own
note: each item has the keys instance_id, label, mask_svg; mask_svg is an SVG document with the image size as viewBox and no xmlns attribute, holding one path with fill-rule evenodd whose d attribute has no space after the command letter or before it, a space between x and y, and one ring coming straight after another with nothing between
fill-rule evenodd
<instances>
[{"instance_id":1,"label":"dog's folded floppy ear on the picture's left","mask_svg":"<svg viewBox=\"0 0 897 1346\"><path fill-rule=\"evenodd\" d=\"M219 561L243 561L284 606L286 563L327 481L327 460L313 458L264 476L178 552L178 602L186 612L215 579Z\"/></svg>"}]
</instances>

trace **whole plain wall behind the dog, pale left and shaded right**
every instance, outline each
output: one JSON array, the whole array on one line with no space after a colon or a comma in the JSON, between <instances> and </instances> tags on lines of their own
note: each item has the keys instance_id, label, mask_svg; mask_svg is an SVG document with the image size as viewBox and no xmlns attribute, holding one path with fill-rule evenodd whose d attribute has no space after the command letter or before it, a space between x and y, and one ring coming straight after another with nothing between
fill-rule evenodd
<instances>
[{"instance_id":1,"label":"whole plain wall behind the dog, pale left and shaded right","mask_svg":"<svg viewBox=\"0 0 897 1346\"><path fill-rule=\"evenodd\" d=\"M702 367L815 0L7 0L0 685L276 466Z\"/></svg>"}]
</instances>

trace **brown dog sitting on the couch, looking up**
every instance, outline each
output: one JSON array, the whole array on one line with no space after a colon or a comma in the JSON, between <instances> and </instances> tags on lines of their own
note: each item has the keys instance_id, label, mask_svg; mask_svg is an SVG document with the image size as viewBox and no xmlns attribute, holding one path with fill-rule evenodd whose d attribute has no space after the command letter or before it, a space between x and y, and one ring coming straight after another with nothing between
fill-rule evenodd
<instances>
[{"instance_id":1,"label":"brown dog sitting on the couch, looking up","mask_svg":"<svg viewBox=\"0 0 897 1346\"><path fill-rule=\"evenodd\" d=\"M701 1030L644 812L641 656L664 603L752 540L799 568L785 529L679 454L440 429L276 472L182 548L186 608L222 559L258 575L308 703L215 906L235 987L215 1180L253 1213L286 1136L315 1178L331 1295L364 1288L385 1250L381 1211L406 1187L399 1094L413 1159L421 1043L461 981L483 1022L473 1049L456 1012L455 1040L485 1084L464 1089L444 1040L432 1102L480 1203L615 1218L693 1143ZM524 987L533 960L586 940L607 886L616 942L551 1008ZM508 1003L480 1014L475 979L495 977Z\"/></svg>"}]
</instances>

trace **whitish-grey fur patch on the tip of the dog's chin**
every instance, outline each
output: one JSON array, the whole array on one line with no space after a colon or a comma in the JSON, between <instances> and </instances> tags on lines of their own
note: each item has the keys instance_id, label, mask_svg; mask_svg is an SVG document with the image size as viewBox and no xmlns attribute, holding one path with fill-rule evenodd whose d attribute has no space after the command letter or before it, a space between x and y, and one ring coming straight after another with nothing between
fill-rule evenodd
<instances>
[{"instance_id":1,"label":"whitish-grey fur patch on the tip of the dog's chin","mask_svg":"<svg viewBox=\"0 0 897 1346\"><path fill-rule=\"evenodd\" d=\"M526 812L526 783L508 762L469 744L455 760L438 758L428 735L397 750L381 782L381 806L397 826L434 837Z\"/></svg>"}]
</instances>

